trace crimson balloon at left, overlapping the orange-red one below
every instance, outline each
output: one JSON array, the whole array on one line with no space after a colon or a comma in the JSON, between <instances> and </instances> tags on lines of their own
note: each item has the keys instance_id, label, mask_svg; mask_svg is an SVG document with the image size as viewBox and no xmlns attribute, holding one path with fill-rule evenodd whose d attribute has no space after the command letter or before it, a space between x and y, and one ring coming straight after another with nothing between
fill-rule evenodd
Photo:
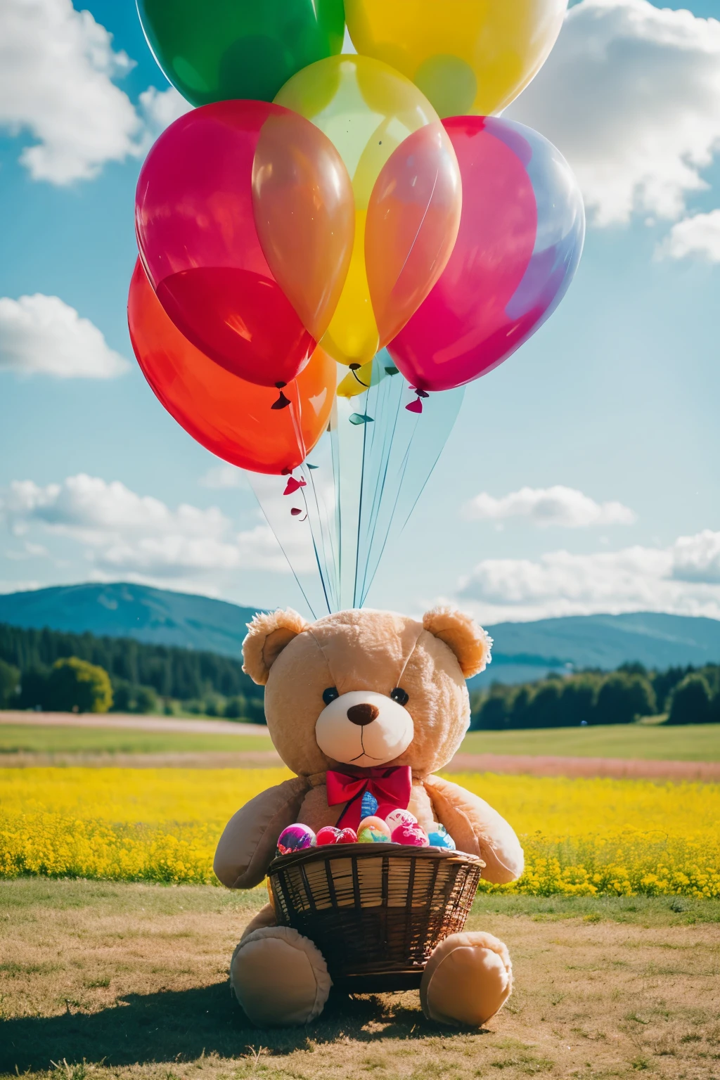
<instances>
[{"instance_id":1,"label":"crimson balloon at left, overlapping the orange-red one below","mask_svg":"<svg viewBox=\"0 0 720 1080\"><path fill-rule=\"evenodd\" d=\"M256 228L253 170L271 120L282 125L283 147L303 173L296 218L314 239L312 251L304 245L312 262L327 246L324 207L332 203L337 166L343 174L344 166L318 129L279 105L219 102L180 117L148 154L135 202L140 258L169 318L207 356L261 386L290 382L316 345L271 271ZM342 280L347 261L341 249L334 272ZM323 288L331 292L328 276ZM310 309L316 303L308 299Z\"/></svg>"}]
</instances>

